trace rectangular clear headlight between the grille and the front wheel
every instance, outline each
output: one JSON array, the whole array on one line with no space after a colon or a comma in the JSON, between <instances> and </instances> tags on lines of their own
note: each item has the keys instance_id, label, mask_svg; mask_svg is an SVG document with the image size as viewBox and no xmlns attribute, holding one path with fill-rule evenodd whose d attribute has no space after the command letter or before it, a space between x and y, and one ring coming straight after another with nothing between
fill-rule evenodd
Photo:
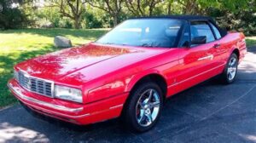
<instances>
[{"instance_id":1,"label":"rectangular clear headlight between the grille and the front wheel","mask_svg":"<svg viewBox=\"0 0 256 143\"><path fill-rule=\"evenodd\" d=\"M83 102L81 90L59 85L55 85L55 98L62 100L72 100L79 103Z\"/></svg>"}]
</instances>

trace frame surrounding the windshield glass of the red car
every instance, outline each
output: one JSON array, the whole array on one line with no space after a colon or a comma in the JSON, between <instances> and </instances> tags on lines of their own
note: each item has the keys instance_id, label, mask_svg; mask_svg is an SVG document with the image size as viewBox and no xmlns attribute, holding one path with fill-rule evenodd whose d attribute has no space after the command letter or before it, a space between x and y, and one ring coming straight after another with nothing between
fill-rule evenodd
<instances>
[{"instance_id":1,"label":"frame surrounding the windshield glass of the red car","mask_svg":"<svg viewBox=\"0 0 256 143\"><path fill-rule=\"evenodd\" d=\"M180 41L180 38L182 37L182 33L183 33L183 28L184 26L186 26L186 24L188 23L187 20L182 20L182 19L173 19L173 18L165 18L165 17L145 17L145 18L131 18L128 20L177 20L181 22L181 26L177 32L177 37L175 39L175 42L173 44L172 47L160 47L160 46L138 46L138 45L130 45L130 44L118 44L118 43L99 43L98 41L102 38L105 37L109 32L113 31L117 26L123 24L125 21L119 23L119 25L114 26L110 31L106 32L105 34L102 35L102 37L99 37L96 39L96 41L94 43L97 44L102 44L102 45L117 45L117 46L131 46L131 47L144 47L144 48L163 48L163 49L171 49L171 48L178 48L178 43Z\"/></svg>"}]
</instances>

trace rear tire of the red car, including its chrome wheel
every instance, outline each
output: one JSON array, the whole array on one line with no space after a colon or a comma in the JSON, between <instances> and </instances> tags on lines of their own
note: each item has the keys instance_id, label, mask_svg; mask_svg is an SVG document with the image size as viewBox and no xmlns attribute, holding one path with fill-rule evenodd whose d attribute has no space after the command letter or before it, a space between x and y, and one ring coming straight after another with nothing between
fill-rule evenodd
<instances>
[{"instance_id":1,"label":"rear tire of the red car, including its chrome wheel","mask_svg":"<svg viewBox=\"0 0 256 143\"><path fill-rule=\"evenodd\" d=\"M233 83L236 80L238 66L238 58L235 53L230 55L230 58L225 66L224 72L220 75L221 82L224 84Z\"/></svg>"}]
</instances>

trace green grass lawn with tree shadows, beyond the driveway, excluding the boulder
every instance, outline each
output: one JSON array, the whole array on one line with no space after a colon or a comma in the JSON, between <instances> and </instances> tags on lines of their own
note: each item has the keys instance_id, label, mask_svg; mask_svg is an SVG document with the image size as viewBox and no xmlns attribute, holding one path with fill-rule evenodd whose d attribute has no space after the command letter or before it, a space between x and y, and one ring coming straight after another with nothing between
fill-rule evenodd
<instances>
[{"instance_id":1,"label":"green grass lawn with tree shadows, beyond the driveway, excluding the boulder","mask_svg":"<svg viewBox=\"0 0 256 143\"><path fill-rule=\"evenodd\" d=\"M16 102L6 84L13 77L13 66L40 54L55 50L53 40L57 35L71 39L73 45L89 43L101 37L106 29L22 29L0 31L0 108ZM256 45L256 37L247 37L247 46Z\"/></svg>"}]
</instances>

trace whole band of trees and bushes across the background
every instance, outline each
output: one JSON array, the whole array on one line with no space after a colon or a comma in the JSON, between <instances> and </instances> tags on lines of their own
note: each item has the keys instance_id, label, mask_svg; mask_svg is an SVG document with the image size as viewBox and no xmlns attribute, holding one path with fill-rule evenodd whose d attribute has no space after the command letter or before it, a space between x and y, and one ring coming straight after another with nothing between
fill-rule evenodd
<instances>
[{"instance_id":1,"label":"whole band of trees and bushes across the background","mask_svg":"<svg viewBox=\"0 0 256 143\"><path fill-rule=\"evenodd\" d=\"M0 0L0 28L104 28L138 16L201 14L256 34L255 0Z\"/></svg>"}]
</instances>

